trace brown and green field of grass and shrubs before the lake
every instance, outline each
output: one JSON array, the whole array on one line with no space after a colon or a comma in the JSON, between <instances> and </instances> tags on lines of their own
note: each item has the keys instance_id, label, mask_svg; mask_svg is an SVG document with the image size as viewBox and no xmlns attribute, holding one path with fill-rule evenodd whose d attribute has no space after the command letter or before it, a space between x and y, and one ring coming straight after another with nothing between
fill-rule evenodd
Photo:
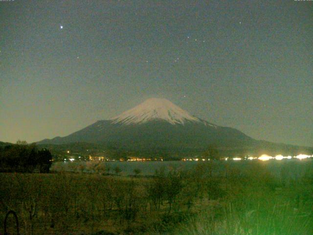
<instances>
[{"instance_id":1,"label":"brown and green field of grass and shrubs before the lake","mask_svg":"<svg viewBox=\"0 0 313 235\"><path fill-rule=\"evenodd\" d=\"M0 222L14 210L25 235L313 234L313 167L290 178L288 169L274 177L260 162L212 174L216 164L160 169L149 178L1 173Z\"/></svg>"}]
</instances>

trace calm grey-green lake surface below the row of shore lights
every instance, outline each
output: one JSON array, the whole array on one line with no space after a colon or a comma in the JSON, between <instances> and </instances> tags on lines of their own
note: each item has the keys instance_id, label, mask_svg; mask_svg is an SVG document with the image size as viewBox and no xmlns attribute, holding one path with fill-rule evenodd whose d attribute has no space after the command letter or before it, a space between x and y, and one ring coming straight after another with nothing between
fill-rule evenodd
<instances>
[{"instance_id":1,"label":"calm grey-green lake surface below the row of shore lights","mask_svg":"<svg viewBox=\"0 0 313 235\"><path fill-rule=\"evenodd\" d=\"M288 175L291 178L297 178L305 174L313 174L313 159L298 160L298 159L284 159L281 161L269 160L262 162L260 160L242 160L242 161L219 161L214 162L216 165L216 173L222 173L225 171L226 167L238 168L240 170L245 170L251 166L251 164L261 164L264 165L271 173L276 176ZM92 167L89 167L90 162L78 161L78 162L58 162L53 163L51 170L54 171L80 171L79 167L84 168L84 172L92 172ZM154 175L156 170L163 168L165 171L171 169L177 170L190 170L197 166L197 164L204 164L204 162L199 161L163 161L163 162L100 162L103 167L106 168L107 173L115 173L114 168L118 166L121 169L121 175L134 175L134 170L139 169L141 175Z\"/></svg>"}]
</instances>

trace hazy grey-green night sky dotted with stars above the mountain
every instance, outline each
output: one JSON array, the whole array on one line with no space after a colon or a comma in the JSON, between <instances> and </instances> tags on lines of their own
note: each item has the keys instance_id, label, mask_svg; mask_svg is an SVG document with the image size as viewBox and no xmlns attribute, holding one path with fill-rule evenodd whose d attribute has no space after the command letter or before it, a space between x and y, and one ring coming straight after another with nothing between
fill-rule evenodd
<instances>
[{"instance_id":1,"label":"hazy grey-green night sky dotted with stars above the mountain","mask_svg":"<svg viewBox=\"0 0 313 235\"><path fill-rule=\"evenodd\" d=\"M0 1L0 141L66 136L150 97L313 146L313 1Z\"/></svg>"}]
</instances>

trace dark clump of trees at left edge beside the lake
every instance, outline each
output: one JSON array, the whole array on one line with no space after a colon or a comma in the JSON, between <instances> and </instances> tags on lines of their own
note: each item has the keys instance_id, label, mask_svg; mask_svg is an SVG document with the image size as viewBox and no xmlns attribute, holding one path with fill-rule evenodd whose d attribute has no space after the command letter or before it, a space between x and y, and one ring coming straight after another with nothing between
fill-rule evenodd
<instances>
[{"instance_id":1,"label":"dark clump of trees at left edge beside the lake","mask_svg":"<svg viewBox=\"0 0 313 235\"><path fill-rule=\"evenodd\" d=\"M38 149L36 144L18 141L0 146L0 172L49 172L52 155L47 149Z\"/></svg>"}]
</instances>

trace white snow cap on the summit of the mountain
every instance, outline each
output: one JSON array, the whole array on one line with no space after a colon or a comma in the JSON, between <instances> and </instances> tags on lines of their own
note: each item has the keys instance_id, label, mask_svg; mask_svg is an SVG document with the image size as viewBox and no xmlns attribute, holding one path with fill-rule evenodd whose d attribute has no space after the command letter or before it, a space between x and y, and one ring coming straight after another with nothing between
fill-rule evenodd
<instances>
[{"instance_id":1,"label":"white snow cap on the summit of the mountain","mask_svg":"<svg viewBox=\"0 0 313 235\"><path fill-rule=\"evenodd\" d=\"M167 99L150 98L134 108L112 118L112 123L138 124L154 119L162 119L169 123L184 124L186 121L201 122Z\"/></svg>"}]
</instances>

